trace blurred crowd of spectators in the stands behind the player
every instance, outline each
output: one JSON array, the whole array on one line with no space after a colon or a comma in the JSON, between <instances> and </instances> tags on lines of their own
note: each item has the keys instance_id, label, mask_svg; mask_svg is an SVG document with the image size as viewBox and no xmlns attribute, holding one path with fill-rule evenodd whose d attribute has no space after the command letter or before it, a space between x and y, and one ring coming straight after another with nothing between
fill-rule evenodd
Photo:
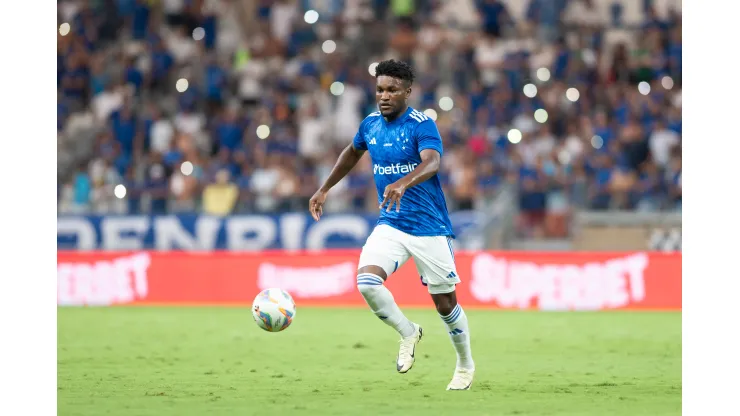
<instances>
[{"instance_id":1,"label":"blurred crowd of spectators in the stands behind the player","mask_svg":"<svg viewBox=\"0 0 740 416\"><path fill-rule=\"evenodd\" d=\"M680 2L60 0L58 23L60 213L305 210L391 57L451 210L513 190L523 235L561 236L575 209L681 209ZM377 209L367 159L327 211Z\"/></svg>"}]
</instances>

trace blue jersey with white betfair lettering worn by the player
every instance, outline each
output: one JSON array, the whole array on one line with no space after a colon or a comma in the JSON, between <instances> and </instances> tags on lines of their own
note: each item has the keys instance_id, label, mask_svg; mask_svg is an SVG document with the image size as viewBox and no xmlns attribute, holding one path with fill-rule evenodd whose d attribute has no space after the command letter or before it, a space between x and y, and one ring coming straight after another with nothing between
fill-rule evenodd
<instances>
[{"instance_id":1,"label":"blue jersey with white betfair lettering worn by the player","mask_svg":"<svg viewBox=\"0 0 740 416\"><path fill-rule=\"evenodd\" d=\"M391 122L379 111L368 115L360 124L353 146L370 153L378 204L383 201L386 186L421 163L422 150L434 149L442 156L442 138L434 120L411 107ZM380 210L378 225L387 224L415 236L455 237L439 175L407 189L400 212L395 204L390 212L386 209Z\"/></svg>"}]
</instances>

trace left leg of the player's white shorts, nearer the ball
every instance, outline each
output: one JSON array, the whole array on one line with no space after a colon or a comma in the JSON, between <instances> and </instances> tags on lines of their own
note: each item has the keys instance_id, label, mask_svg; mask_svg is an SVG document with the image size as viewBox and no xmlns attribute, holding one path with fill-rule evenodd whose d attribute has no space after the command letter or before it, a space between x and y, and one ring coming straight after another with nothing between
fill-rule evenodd
<instances>
[{"instance_id":1,"label":"left leg of the player's white shorts, nearer the ball","mask_svg":"<svg viewBox=\"0 0 740 416\"><path fill-rule=\"evenodd\" d=\"M390 277L399 267L406 263L410 253L403 243L399 231L387 225L378 225L367 238L362 247L358 270L367 266L378 266ZM381 276L383 277L383 276Z\"/></svg>"}]
</instances>

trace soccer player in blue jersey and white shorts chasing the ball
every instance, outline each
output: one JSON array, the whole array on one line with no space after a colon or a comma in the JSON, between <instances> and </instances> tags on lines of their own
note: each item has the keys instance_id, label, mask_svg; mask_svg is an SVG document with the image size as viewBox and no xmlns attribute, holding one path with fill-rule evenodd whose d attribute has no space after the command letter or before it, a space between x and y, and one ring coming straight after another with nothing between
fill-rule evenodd
<instances>
[{"instance_id":1,"label":"soccer player in blue jersey and white shorts chasing the ball","mask_svg":"<svg viewBox=\"0 0 740 416\"><path fill-rule=\"evenodd\" d=\"M468 318L455 295L455 285L460 283L452 251L451 239L455 236L437 175L442 138L432 119L407 104L414 81L408 64L380 62L375 77L380 111L360 123L354 140L311 198L309 211L318 221L327 192L366 151L370 152L380 217L360 254L357 287L373 313L401 335L396 369L406 373L414 365L422 328L401 312L384 283L412 257L457 352L455 373L447 390L467 390L475 366Z\"/></svg>"}]
</instances>

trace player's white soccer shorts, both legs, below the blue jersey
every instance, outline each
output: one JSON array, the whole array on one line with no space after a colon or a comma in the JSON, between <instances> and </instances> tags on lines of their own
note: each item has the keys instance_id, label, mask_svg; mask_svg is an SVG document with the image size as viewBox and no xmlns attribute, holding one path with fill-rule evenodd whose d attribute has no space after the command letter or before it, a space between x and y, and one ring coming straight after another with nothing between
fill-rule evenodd
<instances>
[{"instance_id":1,"label":"player's white soccer shorts, both legs, below the blue jersey","mask_svg":"<svg viewBox=\"0 0 740 416\"><path fill-rule=\"evenodd\" d=\"M385 224L375 227L367 238L358 268L379 266L390 277L409 257L414 258L421 283L429 293L450 293L460 283L450 237L417 237Z\"/></svg>"}]
</instances>

